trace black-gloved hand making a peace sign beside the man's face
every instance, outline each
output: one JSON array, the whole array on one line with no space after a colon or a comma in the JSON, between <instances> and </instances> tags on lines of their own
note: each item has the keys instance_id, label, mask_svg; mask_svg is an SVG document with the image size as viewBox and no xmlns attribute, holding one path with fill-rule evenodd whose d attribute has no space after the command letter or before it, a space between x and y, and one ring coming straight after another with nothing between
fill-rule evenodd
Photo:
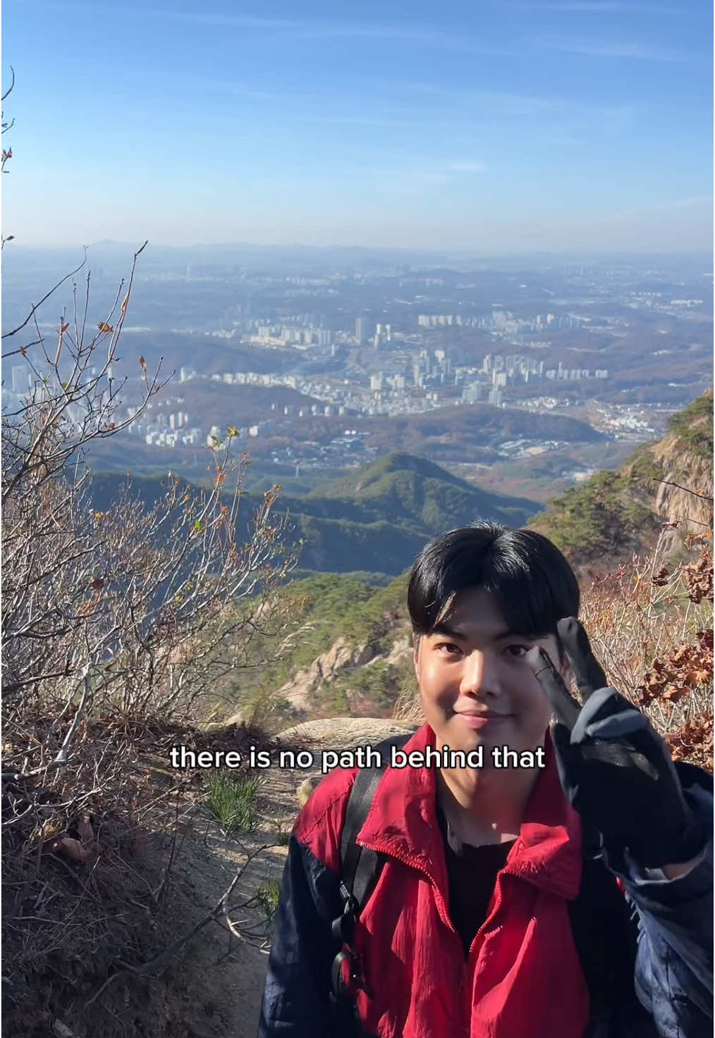
<instances>
[{"instance_id":1,"label":"black-gloved hand making a peace sign beside the man's face","mask_svg":"<svg viewBox=\"0 0 715 1038\"><path fill-rule=\"evenodd\" d=\"M667 745L645 714L608 687L579 621L560 620L557 632L583 704L542 649L531 649L526 659L556 715L552 738L568 800L600 831L606 848L627 848L645 867L688 861L705 835Z\"/></svg>"}]
</instances>

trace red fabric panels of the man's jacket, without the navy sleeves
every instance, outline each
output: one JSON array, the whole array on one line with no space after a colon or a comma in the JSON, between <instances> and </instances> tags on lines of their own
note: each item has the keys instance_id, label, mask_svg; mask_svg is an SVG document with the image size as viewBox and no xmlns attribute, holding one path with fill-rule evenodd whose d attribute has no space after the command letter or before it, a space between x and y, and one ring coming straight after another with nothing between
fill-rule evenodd
<instances>
[{"instance_id":1,"label":"red fabric panels of the man's jacket, without the navy sleeves","mask_svg":"<svg viewBox=\"0 0 715 1038\"><path fill-rule=\"evenodd\" d=\"M404 749L435 745L424 725ZM498 875L487 919L465 962L449 918L435 816L436 772L388 768L358 842L388 855L353 947L367 1032L379 1038L581 1038L588 991L566 901L579 891L581 824L559 783L551 741L519 839ZM332 872L355 771L315 790L294 835Z\"/></svg>"}]
</instances>

